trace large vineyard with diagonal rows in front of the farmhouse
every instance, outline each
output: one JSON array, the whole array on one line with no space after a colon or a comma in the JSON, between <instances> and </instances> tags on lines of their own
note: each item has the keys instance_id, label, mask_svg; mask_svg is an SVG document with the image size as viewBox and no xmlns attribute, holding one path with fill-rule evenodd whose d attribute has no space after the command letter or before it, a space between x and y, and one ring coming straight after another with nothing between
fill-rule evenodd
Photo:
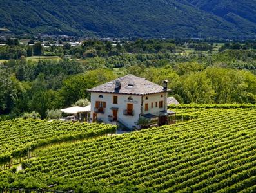
<instances>
[{"instance_id":1,"label":"large vineyard with diagonal rows in front of the farmhouse","mask_svg":"<svg viewBox=\"0 0 256 193\"><path fill-rule=\"evenodd\" d=\"M255 107L197 106L174 111L192 119L52 145L38 151L35 160L23 162L20 172L2 172L0 189L256 191Z\"/></svg>"}]
</instances>

